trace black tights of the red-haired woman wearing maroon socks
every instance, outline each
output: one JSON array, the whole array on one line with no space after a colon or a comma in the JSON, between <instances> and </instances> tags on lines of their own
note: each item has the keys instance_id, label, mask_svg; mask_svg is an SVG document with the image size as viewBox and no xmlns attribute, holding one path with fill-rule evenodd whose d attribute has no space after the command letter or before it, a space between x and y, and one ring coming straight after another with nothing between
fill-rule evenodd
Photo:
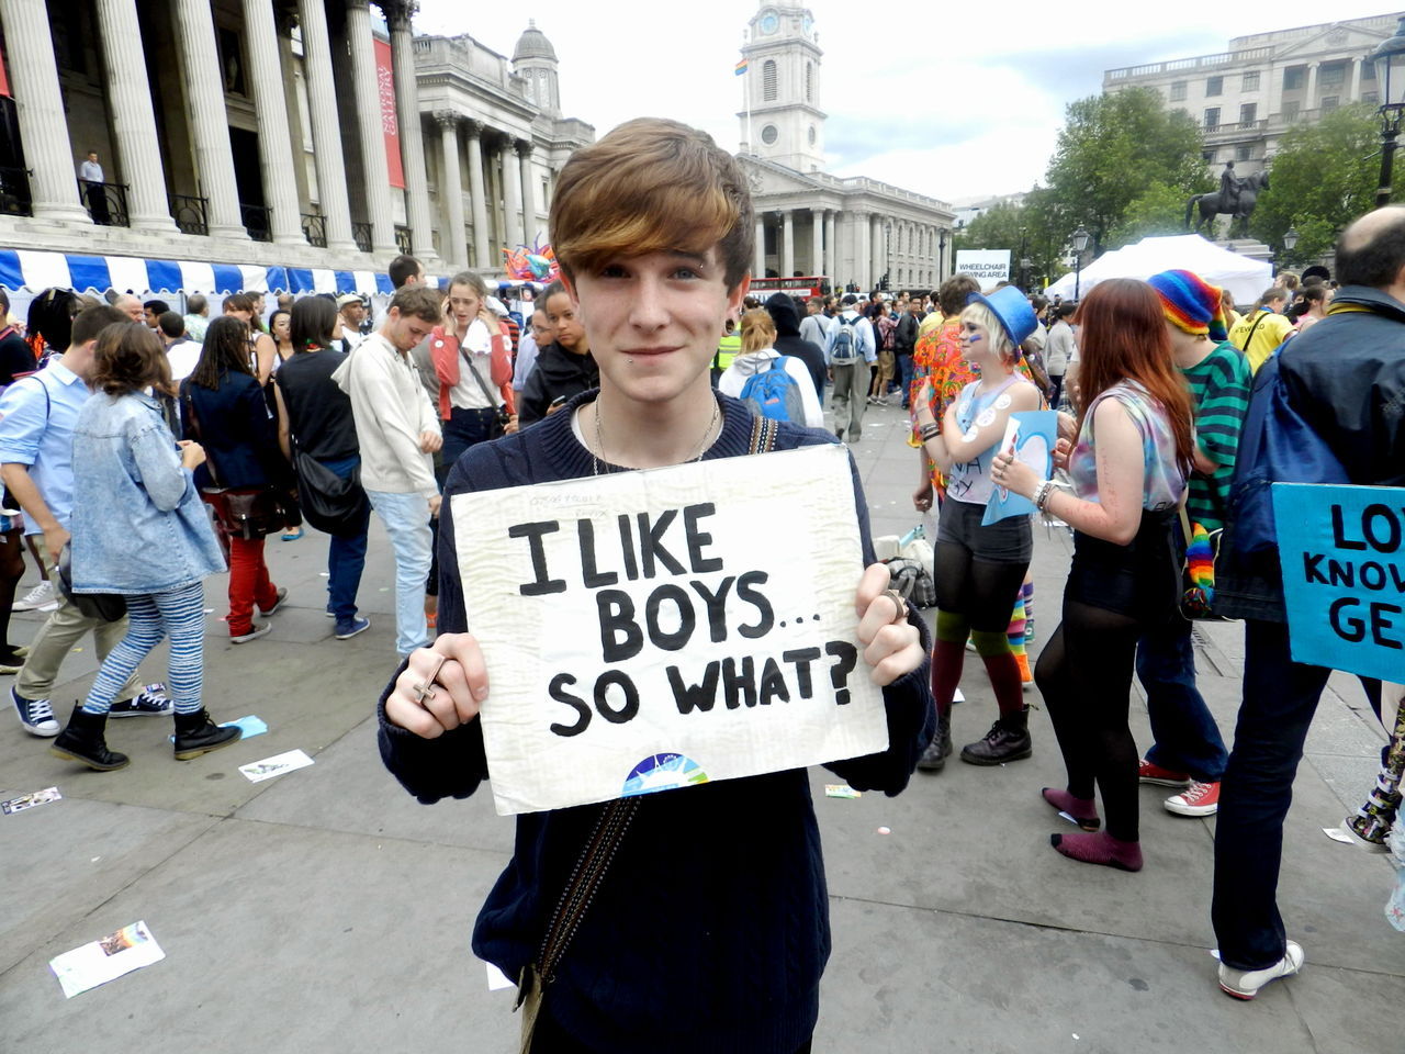
<instances>
[{"instance_id":1,"label":"black tights of the red-haired woman wearing maroon socks","mask_svg":"<svg viewBox=\"0 0 1405 1054\"><path fill-rule=\"evenodd\" d=\"M1096 781L1107 833L1124 842L1135 842L1138 832L1137 742L1127 711L1141 631L1130 616L1065 597L1064 621L1034 668L1068 769L1068 793L1092 798Z\"/></svg>"}]
</instances>

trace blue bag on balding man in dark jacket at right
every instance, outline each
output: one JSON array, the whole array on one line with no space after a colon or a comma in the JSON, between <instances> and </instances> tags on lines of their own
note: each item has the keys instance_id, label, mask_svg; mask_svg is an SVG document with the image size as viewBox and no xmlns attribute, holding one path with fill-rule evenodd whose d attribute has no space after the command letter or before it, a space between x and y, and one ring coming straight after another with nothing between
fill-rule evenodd
<instances>
[{"instance_id":1,"label":"blue bag on balding man in dark jacket at right","mask_svg":"<svg viewBox=\"0 0 1405 1054\"><path fill-rule=\"evenodd\" d=\"M1253 375L1229 483L1225 520L1234 526L1234 545L1241 552L1279 547L1273 520L1274 483L1352 482L1332 448L1293 409L1279 361L1277 354L1270 356Z\"/></svg>"}]
</instances>

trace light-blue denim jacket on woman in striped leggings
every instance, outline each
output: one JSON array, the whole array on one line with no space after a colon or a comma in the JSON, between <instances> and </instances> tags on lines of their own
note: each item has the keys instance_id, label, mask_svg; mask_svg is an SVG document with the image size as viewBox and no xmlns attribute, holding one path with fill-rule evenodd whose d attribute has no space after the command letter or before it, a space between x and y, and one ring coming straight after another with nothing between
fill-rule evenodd
<instances>
[{"instance_id":1,"label":"light-blue denim jacket on woman in striped leggings","mask_svg":"<svg viewBox=\"0 0 1405 1054\"><path fill-rule=\"evenodd\" d=\"M225 571L159 403L93 395L73 429L73 590L162 593Z\"/></svg>"}]
</instances>

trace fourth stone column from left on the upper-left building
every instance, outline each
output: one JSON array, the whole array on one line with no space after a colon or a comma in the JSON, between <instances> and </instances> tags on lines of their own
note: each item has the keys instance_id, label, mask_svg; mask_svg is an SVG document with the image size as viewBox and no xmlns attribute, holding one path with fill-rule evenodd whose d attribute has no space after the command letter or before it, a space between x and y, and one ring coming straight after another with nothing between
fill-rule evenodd
<instances>
[{"instance_id":1,"label":"fourth stone column from left on the upper-left building","mask_svg":"<svg viewBox=\"0 0 1405 1054\"><path fill-rule=\"evenodd\" d=\"M259 167L270 229L278 245L306 245L298 184L288 163L292 136L288 132L288 100L282 94L278 69L278 28L271 0L243 0L244 39L249 42L249 90L259 118Z\"/></svg>"}]
</instances>

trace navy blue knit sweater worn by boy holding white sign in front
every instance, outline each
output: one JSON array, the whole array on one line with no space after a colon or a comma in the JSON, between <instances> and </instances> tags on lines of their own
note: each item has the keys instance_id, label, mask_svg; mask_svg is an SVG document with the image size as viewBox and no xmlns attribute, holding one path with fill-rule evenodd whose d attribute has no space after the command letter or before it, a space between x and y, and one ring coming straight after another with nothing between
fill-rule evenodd
<instances>
[{"instance_id":1,"label":"navy blue knit sweater worn by boy holding white sign in front","mask_svg":"<svg viewBox=\"0 0 1405 1054\"><path fill-rule=\"evenodd\" d=\"M471 447L454 467L454 493L592 474L572 429L575 408L516 436ZM722 431L708 458L747 454L752 417L719 396ZM777 450L833 441L783 424ZM854 474L864 558L873 561L868 513ZM464 632L454 523L440 524L441 632ZM922 625L920 618L913 617ZM926 628L922 628L926 645ZM386 690L386 693L389 689ZM860 790L898 794L908 784L933 714L927 665L884 690L889 748L835 762ZM407 791L430 804L472 794L488 779L483 736L472 721L420 739L381 714L381 756ZM473 951L517 978L535 957L549 915L603 805L517 818L513 859L483 905ZM639 800L594 904L547 989L548 1012L599 1051L791 1054L819 1013L829 958L829 904L819 829L804 769L708 783Z\"/></svg>"}]
</instances>

